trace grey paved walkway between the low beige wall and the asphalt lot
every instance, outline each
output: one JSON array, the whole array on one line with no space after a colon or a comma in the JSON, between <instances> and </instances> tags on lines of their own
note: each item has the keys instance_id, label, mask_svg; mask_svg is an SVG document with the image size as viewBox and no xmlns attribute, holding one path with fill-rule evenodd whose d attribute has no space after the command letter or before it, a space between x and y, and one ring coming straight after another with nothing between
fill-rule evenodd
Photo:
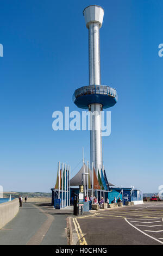
<instances>
[{"instance_id":1,"label":"grey paved walkway between the low beige wall and the asphalt lot","mask_svg":"<svg viewBox=\"0 0 163 256\"><path fill-rule=\"evenodd\" d=\"M67 217L73 209L55 210L46 203L23 203L0 230L0 245L67 245Z\"/></svg>"}]
</instances>

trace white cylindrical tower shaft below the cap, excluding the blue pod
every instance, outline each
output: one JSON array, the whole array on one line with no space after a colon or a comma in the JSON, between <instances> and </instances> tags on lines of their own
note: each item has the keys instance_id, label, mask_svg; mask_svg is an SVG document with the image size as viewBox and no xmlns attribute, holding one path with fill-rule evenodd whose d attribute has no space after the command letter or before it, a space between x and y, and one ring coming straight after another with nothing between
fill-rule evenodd
<instances>
[{"instance_id":1,"label":"white cylindrical tower shaft below the cap, excluding the blue pod","mask_svg":"<svg viewBox=\"0 0 163 256\"><path fill-rule=\"evenodd\" d=\"M89 23L89 84L101 84L100 54L99 54L99 23ZM92 117L91 133L91 162L101 164L102 136L101 136L101 104L91 104L90 111L95 113Z\"/></svg>"}]
</instances>

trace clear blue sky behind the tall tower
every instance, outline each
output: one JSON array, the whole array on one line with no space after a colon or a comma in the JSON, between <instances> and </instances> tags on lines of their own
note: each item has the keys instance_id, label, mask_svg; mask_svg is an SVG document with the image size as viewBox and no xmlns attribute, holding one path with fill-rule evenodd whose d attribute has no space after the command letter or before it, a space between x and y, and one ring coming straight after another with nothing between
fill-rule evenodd
<instances>
[{"instance_id":1,"label":"clear blue sky behind the tall tower","mask_svg":"<svg viewBox=\"0 0 163 256\"><path fill-rule=\"evenodd\" d=\"M0 8L0 185L49 192L58 161L75 174L90 159L89 131L53 131L53 111L79 110L75 89L89 83L83 9L104 10L101 81L117 89L111 135L103 138L108 180L156 192L162 174L162 0L6 0ZM76 166L78 167L76 168Z\"/></svg>"}]
</instances>

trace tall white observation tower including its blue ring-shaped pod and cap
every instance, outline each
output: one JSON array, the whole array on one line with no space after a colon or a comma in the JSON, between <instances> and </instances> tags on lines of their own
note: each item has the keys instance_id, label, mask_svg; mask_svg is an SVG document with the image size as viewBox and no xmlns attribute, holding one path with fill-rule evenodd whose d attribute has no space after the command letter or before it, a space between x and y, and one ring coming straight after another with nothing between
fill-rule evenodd
<instances>
[{"instance_id":1,"label":"tall white observation tower including its blue ring-shaped pod and cap","mask_svg":"<svg viewBox=\"0 0 163 256\"><path fill-rule=\"evenodd\" d=\"M99 29L102 27L104 9L89 5L83 11L89 32L89 86L75 90L73 101L79 108L89 109L92 114L90 131L90 156L95 169L103 169L101 111L117 102L117 92L110 86L101 85ZM91 117L91 115L90 115Z\"/></svg>"}]
</instances>

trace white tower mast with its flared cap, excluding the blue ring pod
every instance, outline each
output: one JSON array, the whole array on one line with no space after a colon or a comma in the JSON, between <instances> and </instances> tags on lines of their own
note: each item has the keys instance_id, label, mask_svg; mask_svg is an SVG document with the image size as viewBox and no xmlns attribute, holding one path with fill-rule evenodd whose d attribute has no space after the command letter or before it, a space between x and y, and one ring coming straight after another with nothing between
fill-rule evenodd
<instances>
[{"instance_id":1,"label":"white tower mast with its flared cap, excluding the blue ring pod","mask_svg":"<svg viewBox=\"0 0 163 256\"><path fill-rule=\"evenodd\" d=\"M89 84L100 85L101 84L101 72L100 72L100 51L99 51L99 29L102 27L104 9L98 5L90 5L83 11L83 15L86 22L86 27L89 29ZM102 164L102 136L101 136L101 111L102 105L99 103L93 103L89 105L89 110L93 113L91 118L90 131L90 155L91 163L95 164L95 167L103 166ZM97 170L96 170L97 171ZM99 172L101 170L99 169Z\"/></svg>"}]
</instances>

